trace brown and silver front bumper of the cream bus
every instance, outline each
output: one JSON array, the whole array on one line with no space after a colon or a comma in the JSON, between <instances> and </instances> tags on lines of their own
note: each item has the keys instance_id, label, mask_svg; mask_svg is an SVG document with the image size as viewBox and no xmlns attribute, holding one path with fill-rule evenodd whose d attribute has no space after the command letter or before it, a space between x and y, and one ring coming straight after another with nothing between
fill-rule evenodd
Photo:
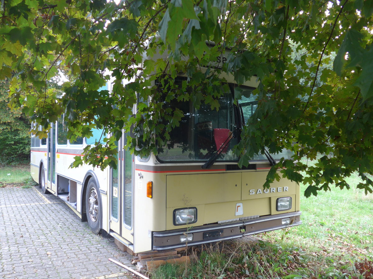
<instances>
[{"instance_id":1,"label":"brown and silver front bumper of the cream bus","mask_svg":"<svg viewBox=\"0 0 373 279\"><path fill-rule=\"evenodd\" d=\"M235 221L230 224L211 224L191 229L183 228L170 231L153 232L153 250L167 250L185 246L200 245L220 240L243 237L266 231L279 230L302 224L301 211L267 215L248 221ZM290 219L289 224L283 225L283 219ZM244 218L242 218L244 219ZM180 236L193 234L193 240L181 242Z\"/></svg>"}]
</instances>

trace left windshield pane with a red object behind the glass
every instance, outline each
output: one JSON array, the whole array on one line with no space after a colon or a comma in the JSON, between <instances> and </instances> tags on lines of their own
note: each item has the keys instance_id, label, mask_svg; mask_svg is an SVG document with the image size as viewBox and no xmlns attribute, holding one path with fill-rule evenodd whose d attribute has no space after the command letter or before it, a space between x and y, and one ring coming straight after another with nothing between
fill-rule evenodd
<instances>
[{"instance_id":1,"label":"left windshield pane with a red object behind the glass","mask_svg":"<svg viewBox=\"0 0 373 279\"><path fill-rule=\"evenodd\" d=\"M182 110L180 125L170 132L170 140L159 147L158 158L163 162L207 161L221 151L217 161L237 161L232 148L237 144L233 98L230 90L219 98L219 110L202 104L195 109L191 101L176 99L164 102L170 109Z\"/></svg>"}]
</instances>

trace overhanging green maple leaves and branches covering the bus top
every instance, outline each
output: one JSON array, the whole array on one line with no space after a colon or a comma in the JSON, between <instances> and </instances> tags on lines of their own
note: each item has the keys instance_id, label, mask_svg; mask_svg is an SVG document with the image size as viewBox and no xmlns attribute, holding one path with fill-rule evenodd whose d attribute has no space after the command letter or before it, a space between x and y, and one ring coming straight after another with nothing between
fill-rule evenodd
<instances>
[{"instance_id":1,"label":"overhanging green maple leaves and branches covering the bus top","mask_svg":"<svg viewBox=\"0 0 373 279\"><path fill-rule=\"evenodd\" d=\"M169 139L181 113L164 108L162 95L218 109L220 74L233 76L238 85L256 76L258 108L236 146L239 164L247 165L264 148L270 153L286 148L297 155L273 169L285 167L282 177L303 181L306 196L349 187L346 178L355 172L361 178L358 187L368 193L373 189L367 175L373 174L372 4L329 3L1 1L0 80L14 73L11 105L22 107L44 129L65 113L72 140L92 128L110 132L103 145L85 149L82 158L105 167L114 164L115 141L131 125L136 137L128 138L127 147L135 154L157 153ZM160 37L148 40L155 35ZM207 47L206 40L216 45ZM300 50L303 54L293 59ZM227 60L221 69L209 66L223 52ZM333 70L324 67L335 53ZM48 89L48 80L59 71L70 80L62 86L64 93ZM187 80L172 90L180 73ZM98 91L109 80L112 94ZM137 94L151 99L140 102L131 117ZM278 179L270 174L266 186Z\"/></svg>"}]
</instances>

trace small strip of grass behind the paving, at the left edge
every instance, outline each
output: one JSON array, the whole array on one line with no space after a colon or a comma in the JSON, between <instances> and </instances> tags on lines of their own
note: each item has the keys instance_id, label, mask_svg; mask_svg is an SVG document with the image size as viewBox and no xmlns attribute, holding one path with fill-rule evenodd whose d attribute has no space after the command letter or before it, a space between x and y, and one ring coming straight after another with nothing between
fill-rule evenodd
<instances>
[{"instance_id":1,"label":"small strip of grass behind the paving, at the left edge","mask_svg":"<svg viewBox=\"0 0 373 279\"><path fill-rule=\"evenodd\" d=\"M0 187L20 186L30 188L35 185L30 176L30 165L0 166Z\"/></svg>"}]
</instances>

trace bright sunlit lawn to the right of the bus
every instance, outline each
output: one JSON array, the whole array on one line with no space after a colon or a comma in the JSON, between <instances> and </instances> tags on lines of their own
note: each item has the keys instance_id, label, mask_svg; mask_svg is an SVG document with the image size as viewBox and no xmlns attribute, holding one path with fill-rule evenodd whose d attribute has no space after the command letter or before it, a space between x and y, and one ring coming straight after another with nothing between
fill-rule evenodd
<instances>
[{"instance_id":1,"label":"bright sunlit lawn to the right of the bus","mask_svg":"<svg viewBox=\"0 0 373 279\"><path fill-rule=\"evenodd\" d=\"M357 177L350 185L357 185ZM305 187L301 187L301 189ZM332 189L317 197L301 197L303 225L288 230L288 245L307 247L309 252L349 257L373 256L373 195L365 195L352 186L350 190ZM263 240L281 240L283 231L269 232Z\"/></svg>"}]
</instances>

